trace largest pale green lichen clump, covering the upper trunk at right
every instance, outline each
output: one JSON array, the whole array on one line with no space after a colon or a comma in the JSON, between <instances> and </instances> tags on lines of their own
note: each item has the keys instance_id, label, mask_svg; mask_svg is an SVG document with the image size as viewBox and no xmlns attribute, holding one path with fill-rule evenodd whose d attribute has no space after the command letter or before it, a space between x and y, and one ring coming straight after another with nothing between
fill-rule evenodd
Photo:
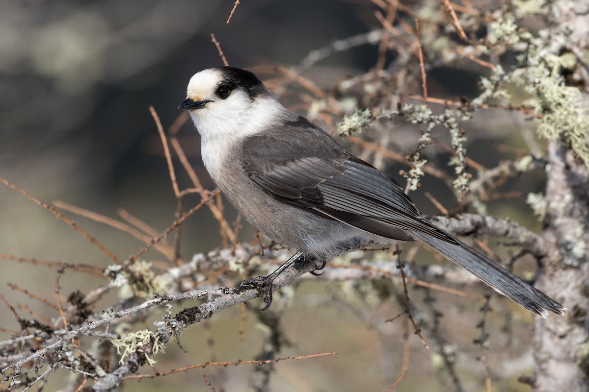
<instances>
[{"instance_id":1,"label":"largest pale green lichen clump, covering the upper trunk at right","mask_svg":"<svg viewBox=\"0 0 589 392\"><path fill-rule=\"evenodd\" d=\"M573 32L565 26L543 29L533 36L518 31L515 16L506 14L489 24L488 37L492 45L521 44L521 53L517 68L500 78L501 82L495 72L481 79L482 96L508 97L502 83L522 86L529 96L523 105L539 115L534 118L538 135L570 145L589 167L589 106L579 89L567 86L562 76L562 70L573 70L578 63L574 53L564 51L577 42Z\"/></svg>"}]
</instances>

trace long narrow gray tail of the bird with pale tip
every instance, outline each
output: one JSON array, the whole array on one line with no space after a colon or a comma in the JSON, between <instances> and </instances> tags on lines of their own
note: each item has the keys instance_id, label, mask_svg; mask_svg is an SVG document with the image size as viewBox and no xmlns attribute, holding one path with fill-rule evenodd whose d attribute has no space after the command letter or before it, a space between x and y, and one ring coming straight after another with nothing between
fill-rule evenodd
<instances>
[{"instance_id":1,"label":"long narrow gray tail of the bird with pale tip","mask_svg":"<svg viewBox=\"0 0 589 392\"><path fill-rule=\"evenodd\" d=\"M525 309L539 314L544 318L548 316L547 310L559 316L564 316L564 311L567 309L560 303L551 299L540 290L534 289L530 284L525 283L519 277L499 266L499 264L492 262L465 243L459 240L456 240L456 243L450 243L438 237L417 231L407 230L407 232L413 238L425 242L497 290L499 294L509 297L515 303L525 307Z\"/></svg>"}]
</instances>

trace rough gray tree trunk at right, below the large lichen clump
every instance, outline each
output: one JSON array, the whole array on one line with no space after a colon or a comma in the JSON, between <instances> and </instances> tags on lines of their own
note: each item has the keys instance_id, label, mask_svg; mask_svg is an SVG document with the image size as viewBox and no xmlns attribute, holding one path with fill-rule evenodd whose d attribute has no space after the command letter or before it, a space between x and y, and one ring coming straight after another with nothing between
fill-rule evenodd
<instances>
[{"instance_id":1,"label":"rough gray tree trunk at right, below the large lichen clump","mask_svg":"<svg viewBox=\"0 0 589 392\"><path fill-rule=\"evenodd\" d=\"M568 308L535 320L538 392L589 391L589 171L571 150L550 143L544 238L554 244L537 287Z\"/></svg>"}]
</instances>

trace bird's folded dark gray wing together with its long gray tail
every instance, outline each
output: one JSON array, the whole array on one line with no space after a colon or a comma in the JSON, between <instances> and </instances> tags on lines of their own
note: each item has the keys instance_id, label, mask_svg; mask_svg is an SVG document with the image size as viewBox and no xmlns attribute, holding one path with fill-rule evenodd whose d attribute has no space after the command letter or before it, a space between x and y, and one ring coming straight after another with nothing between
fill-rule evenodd
<instances>
[{"instance_id":1,"label":"bird's folded dark gray wing together with its long gray tail","mask_svg":"<svg viewBox=\"0 0 589 392\"><path fill-rule=\"evenodd\" d=\"M308 120L249 138L244 149L243 169L277 199L379 236L419 239L526 309L564 314L557 301L422 219L391 178Z\"/></svg>"}]
</instances>

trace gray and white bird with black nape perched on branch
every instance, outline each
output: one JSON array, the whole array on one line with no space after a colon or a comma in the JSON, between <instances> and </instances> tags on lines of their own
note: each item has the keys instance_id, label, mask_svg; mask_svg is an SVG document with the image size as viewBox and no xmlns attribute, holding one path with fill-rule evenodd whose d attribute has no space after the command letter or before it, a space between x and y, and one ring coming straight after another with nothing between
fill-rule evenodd
<instances>
[{"instance_id":1,"label":"gray and white bird with black nape perched on branch","mask_svg":"<svg viewBox=\"0 0 589 392\"><path fill-rule=\"evenodd\" d=\"M372 243L418 239L526 309L564 314L559 303L429 223L394 180L280 105L252 72L198 72L179 107L190 113L204 166L227 199L271 239L299 251L260 278L266 307L274 277L299 260L325 266Z\"/></svg>"}]
</instances>

